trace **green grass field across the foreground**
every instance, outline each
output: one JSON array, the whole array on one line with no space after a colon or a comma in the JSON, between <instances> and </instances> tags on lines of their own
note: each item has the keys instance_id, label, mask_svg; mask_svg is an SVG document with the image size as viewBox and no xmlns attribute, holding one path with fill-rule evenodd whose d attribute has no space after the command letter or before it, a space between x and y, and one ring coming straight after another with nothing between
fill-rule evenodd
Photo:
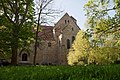
<instances>
[{"instance_id":1,"label":"green grass field across the foreground","mask_svg":"<svg viewBox=\"0 0 120 80\"><path fill-rule=\"evenodd\" d=\"M0 80L120 80L120 65L6 66Z\"/></svg>"}]
</instances>

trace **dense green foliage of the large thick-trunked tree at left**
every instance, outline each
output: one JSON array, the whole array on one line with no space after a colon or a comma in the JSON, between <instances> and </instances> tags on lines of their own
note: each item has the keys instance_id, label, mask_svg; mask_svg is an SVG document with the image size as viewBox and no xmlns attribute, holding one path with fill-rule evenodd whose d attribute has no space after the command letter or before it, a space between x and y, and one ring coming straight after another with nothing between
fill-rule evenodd
<instances>
[{"instance_id":1,"label":"dense green foliage of the large thick-trunked tree at left","mask_svg":"<svg viewBox=\"0 0 120 80\"><path fill-rule=\"evenodd\" d=\"M33 0L0 0L0 7L0 54L11 55L13 47L18 50L33 42L34 4Z\"/></svg>"}]
</instances>

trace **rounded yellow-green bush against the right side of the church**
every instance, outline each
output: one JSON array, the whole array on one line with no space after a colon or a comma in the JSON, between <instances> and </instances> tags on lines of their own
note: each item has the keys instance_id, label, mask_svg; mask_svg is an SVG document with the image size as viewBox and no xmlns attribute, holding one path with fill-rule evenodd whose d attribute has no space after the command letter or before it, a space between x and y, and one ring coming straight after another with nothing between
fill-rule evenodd
<instances>
[{"instance_id":1,"label":"rounded yellow-green bush against the right side of the church","mask_svg":"<svg viewBox=\"0 0 120 80\"><path fill-rule=\"evenodd\" d=\"M89 54L90 43L86 37L84 37L84 33L79 31L76 39L72 45L72 49L70 49L68 54L68 64L70 65L79 65L86 63L86 59Z\"/></svg>"}]
</instances>

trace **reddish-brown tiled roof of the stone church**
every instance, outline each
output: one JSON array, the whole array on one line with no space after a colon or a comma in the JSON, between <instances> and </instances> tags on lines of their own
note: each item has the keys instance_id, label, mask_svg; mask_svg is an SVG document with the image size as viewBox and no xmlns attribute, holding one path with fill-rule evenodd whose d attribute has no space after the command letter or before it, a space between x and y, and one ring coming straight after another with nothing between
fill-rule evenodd
<instances>
[{"instance_id":1,"label":"reddish-brown tiled roof of the stone church","mask_svg":"<svg viewBox=\"0 0 120 80\"><path fill-rule=\"evenodd\" d=\"M72 16L69 16L68 13L66 13L62 18L64 18L65 16L68 16L70 17L76 24L76 19ZM62 18L56 23L58 24ZM55 26L56 26L55 24ZM62 33L62 30L61 30L61 27L56 27L55 26L47 26L47 25L41 25L41 32L38 33L38 36L42 39L42 40L50 40L50 41L53 41L55 40L55 36L59 36L61 33ZM79 26L76 24L76 26L79 28ZM80 28L79 28L80 29ZM55 35L54 35L54 32L53 30L55 30Z\"/></svg>"}]
</instances>

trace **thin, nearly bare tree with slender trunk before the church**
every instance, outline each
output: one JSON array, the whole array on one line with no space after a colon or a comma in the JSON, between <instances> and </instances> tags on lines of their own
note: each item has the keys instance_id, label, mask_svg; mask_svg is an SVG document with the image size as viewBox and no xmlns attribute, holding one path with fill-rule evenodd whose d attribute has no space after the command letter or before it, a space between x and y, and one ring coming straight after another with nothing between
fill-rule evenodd
<instances>
[{"instance_id":1,"label":"thin, nearly bare tree with slender trunk before the church","mask_svg":"<svg viewBox=\"0 0 120 80\"><path fill-rule=\"evenodd\" d=\"M42 24L49 24L52 22L55 17L61 12L52 7L54 0L35 0L36 3L36 20L37 20L37 29L35 35L35 51L34 51L34 60L33 63L36 63L36 54L38 47L38 33L40 26Z\"/></svg>"}]
</instances>

